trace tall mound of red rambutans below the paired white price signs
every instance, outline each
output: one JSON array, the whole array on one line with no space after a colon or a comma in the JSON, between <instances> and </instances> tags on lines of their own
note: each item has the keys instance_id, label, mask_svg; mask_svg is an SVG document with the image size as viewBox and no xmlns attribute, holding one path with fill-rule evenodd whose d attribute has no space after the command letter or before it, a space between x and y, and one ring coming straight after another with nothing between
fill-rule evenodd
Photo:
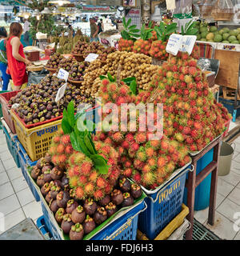
<instances>
[{"instance_id":1,"label":"tall mound of red rambutans below the paired white price signs","mask_svg":"<svg viewBox=\"0 0 240 256\"><path fill-rule=\"evenodd\" d=\"M182 142L191 152L202 150L221 135L231 118L226 108L216 102L197 62L179 52L160 66L152 82L161 91L155 103L164 104L164 134Z\"/></svg>"}]
</instances>

